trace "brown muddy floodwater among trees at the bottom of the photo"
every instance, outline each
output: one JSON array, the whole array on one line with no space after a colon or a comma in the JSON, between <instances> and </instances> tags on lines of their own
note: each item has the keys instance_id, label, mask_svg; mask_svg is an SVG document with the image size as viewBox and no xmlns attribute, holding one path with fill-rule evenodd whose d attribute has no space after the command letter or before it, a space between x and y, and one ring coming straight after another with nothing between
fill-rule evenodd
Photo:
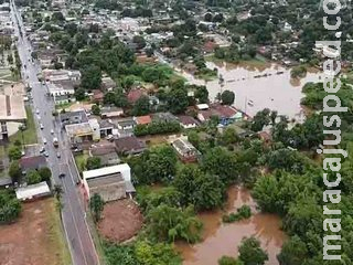
<instances>
[{"instance_id":1,"label":"brown muddy floodwater among trees at the bottom of the photo","mask_svg":"<svg viewBox=\"0 0 353 265\"><path fill-rule=\"evenodd\" d=\"M184 265L217 265L223 255L237 256L237 247L244 236L256 236L261 247L268 253L267 265L277 265L276 255L286 240L280 230L280 219L274 214L256 212L256 203L248 190L233 187L228 191L226 211L235 212L237 208L247 204L253 216L248 220L231 224L222 223L222 212L202 213L199 218L204 223L203 241L195 245L176 243L176 250L184 258Z\"/></svg>"}]
</instances>

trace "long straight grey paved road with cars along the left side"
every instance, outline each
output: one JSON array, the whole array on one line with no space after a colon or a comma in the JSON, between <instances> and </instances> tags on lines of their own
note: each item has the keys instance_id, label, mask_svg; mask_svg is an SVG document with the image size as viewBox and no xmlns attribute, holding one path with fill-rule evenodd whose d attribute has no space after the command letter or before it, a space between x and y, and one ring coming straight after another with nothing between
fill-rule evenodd
<instances>
[{"instance_id":1,"label":"long straight grey paved road with cars along the left side","mask_svg":"<svg viewBox=\"0 0 353 265\"><path fill-rule=\"evenodd\" d=\"M18 51L23 65L22 77L32 87L33 110L39 113L39 115L35 115L39 139L42 142L43 139L46 139L47 144L42 145L45 146L49 152L47 162L53 173L53 182L63 187L62 218L73 263L74 265L97 265L99 261L85 220L85 209L78 195L76 182L79 177L74 167L68 139L61 130L60 120L52 116L52 110L54 109L53 100L46 95L46 87L38 80L36 74L40 73L41 67L38 62L32 63L32 47L25 38L22 18L13 1L11 1L11 18L14 23ZM19 30L22 32L23 38ZM43 129L40 129L40 124L43 125ZM54 130L53 135L51 130ZM54 148L53 137L58 138L58 148ZM57 152L61 153L61 158L57 157ZM60 173L65 173L65 177L60 179Z\"/></svg>"}]
</instances>

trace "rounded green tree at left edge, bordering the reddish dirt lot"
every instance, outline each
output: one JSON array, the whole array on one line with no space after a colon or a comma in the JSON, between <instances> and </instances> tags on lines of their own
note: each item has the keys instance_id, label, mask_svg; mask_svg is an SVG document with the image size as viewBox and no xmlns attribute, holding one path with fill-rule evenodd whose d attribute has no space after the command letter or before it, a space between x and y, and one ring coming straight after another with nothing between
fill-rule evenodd
<instances>
[{"instance_id":1,"label":"rounded green tree at left edge, bordering the reddish dirt lot","mask_svg":"<svg viewBox=\"0 0 353 265\"><path fill-rule=\"evenodd\" d=\"M13 193L7 190L0 191L0 223L13 222L21 213L21 203Z\"/></svg>"}]
</instances>

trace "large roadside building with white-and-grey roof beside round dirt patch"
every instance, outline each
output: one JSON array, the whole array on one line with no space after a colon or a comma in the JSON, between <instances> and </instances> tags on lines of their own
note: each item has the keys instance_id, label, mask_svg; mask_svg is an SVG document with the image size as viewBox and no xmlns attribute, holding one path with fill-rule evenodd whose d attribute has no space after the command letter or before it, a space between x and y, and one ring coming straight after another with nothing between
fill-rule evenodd
<instances>
[{"instance_id":1,"label":"large roadside building with white-and-grey roof beside round dirt patch","mask_svg":"<svg viewBox=\"0 0 353 265\"><path fill-rule=\"evenodd\" d=\"M84 171L83 183L88 199L98 193L105 202L124 199L136 192L127 163Z\"/></svg>"}]
</instances>

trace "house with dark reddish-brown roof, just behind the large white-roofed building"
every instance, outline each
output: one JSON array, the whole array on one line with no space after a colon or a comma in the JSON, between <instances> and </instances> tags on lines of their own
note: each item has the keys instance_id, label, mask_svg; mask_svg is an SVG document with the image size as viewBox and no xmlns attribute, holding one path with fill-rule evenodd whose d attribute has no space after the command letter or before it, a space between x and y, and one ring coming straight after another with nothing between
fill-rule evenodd
<instances>
[{"instance_id":1,"label":"house with dark reddish-brown roof, just behind the large white-roofed building","mask_svg":"<svg viewBox=\"0 0 353 265\"><path fill-rule=\"evenodd\" d=\"M117 152L121 155L139 155L146 150L146 144L136 136L122 137L115 140Z\"/></svg>"}]
</instances>

